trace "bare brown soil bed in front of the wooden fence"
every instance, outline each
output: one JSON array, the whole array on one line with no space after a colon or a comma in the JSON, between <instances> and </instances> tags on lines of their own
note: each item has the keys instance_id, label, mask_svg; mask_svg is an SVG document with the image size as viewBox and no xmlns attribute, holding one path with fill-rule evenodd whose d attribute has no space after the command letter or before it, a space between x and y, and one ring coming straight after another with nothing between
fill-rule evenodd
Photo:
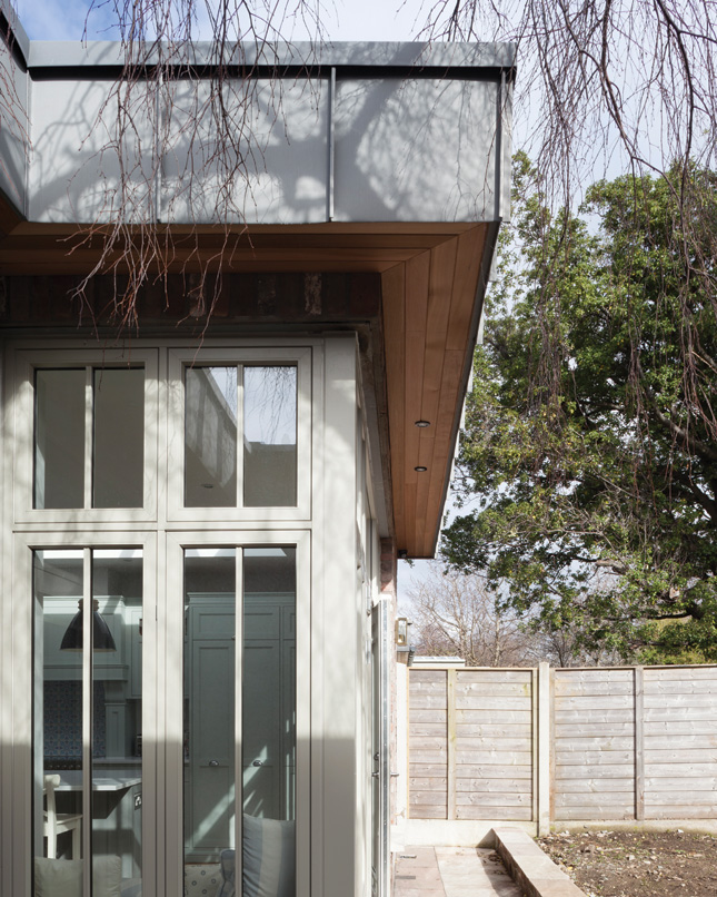
<instances>
[{"instance_id":1,"label":"bare brown soil bed in front of the wooden fence","mask_svg":"<svg viewBox=\"0 0 717 897\"><path fill-rule=\"evenodd\" d=\"M560 832L538 844L588 897L717 895L717 838L711 835Z\"/></svg>"}]
</instances>

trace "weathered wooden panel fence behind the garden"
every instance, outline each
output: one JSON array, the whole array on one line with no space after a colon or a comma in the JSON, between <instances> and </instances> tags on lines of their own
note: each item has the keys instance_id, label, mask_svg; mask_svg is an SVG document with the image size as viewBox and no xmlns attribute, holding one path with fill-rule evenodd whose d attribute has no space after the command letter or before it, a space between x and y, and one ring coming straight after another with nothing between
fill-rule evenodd
<instances>
[{"instance_id":1,"label":"weathered wooden panel fence behind the garden","mask_svg":"<svg viewBox=\"0 0 717 897\"><path fill-rule=\"evenodd\" d=\"M414 819L717 818L717 666L414 669Z\"/></svg>"}]
</instances>

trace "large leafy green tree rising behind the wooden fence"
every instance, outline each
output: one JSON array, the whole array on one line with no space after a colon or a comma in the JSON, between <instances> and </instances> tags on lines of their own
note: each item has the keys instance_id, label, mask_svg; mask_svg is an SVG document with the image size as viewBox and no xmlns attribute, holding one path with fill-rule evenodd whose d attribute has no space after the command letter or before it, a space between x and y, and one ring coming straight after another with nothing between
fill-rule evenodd
<instances>
[{"instance_id":1,"label":"large leafy green tree rising behind the wooden fence","mask_svg":"<svg viewBox=\"0 0 717 897\"><path fill-rule=\"evenodd\" d=\"M717 176L673 175L694 214L625 176L550 216L518 157L444 541L544 629L645 662L717 660Z\"/></svg>"}]
</instances>

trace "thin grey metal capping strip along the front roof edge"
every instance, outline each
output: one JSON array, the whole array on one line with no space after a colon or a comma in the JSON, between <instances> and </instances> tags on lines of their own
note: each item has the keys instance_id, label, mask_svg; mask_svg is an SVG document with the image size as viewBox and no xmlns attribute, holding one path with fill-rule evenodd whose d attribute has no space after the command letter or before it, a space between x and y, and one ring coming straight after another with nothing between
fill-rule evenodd
<instances>
[{"instance_id":1,"label":"thin grey metal capping strip along the front roof edge","mask_svg":"<svg viewBox=\"0 0 717 897\"><path fill-rule=\"evenodd\" d=\"M7 3L8 0L0 0ZM16 17L17 21L17 17ZM19 22L18 22L19 24ZM21 26L20 26L21 29ZM22 31L24 36L24 31ZM119 41L28 41L26 59L30 69L39 68L117 68L126 62ZM172 48L163 47L163 63L171 63ZM151 45L137 49L137 61L152 66L159 56ZM514 43L427 43L427 42L327 42L327 43L242 43L219 59L216 45L197 41L176 50L178 66L259 66L267 68L406 68L416 69L511 69L515 66Z\"/></svg>"}]
</instances>

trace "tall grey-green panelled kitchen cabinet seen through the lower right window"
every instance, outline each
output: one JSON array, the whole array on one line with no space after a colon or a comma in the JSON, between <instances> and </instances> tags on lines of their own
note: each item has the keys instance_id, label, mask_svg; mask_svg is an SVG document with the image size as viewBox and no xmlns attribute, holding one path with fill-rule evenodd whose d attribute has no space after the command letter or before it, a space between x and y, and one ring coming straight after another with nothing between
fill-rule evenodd
<instances>
[{"instance_id":1,"label":"tall grey-green panelled kitchen cabinet seen through the lower right window","mask_svg":"<svg viewBox=\"0 0 717 897\"><path fill-rule=\"evenodd\" d=\"M233 845L235 598L192 594L187 610L188 857ZM242 672L243 811L293 818L296 717L293 594L245 595Z\"/></svg>"}]
</instances>

